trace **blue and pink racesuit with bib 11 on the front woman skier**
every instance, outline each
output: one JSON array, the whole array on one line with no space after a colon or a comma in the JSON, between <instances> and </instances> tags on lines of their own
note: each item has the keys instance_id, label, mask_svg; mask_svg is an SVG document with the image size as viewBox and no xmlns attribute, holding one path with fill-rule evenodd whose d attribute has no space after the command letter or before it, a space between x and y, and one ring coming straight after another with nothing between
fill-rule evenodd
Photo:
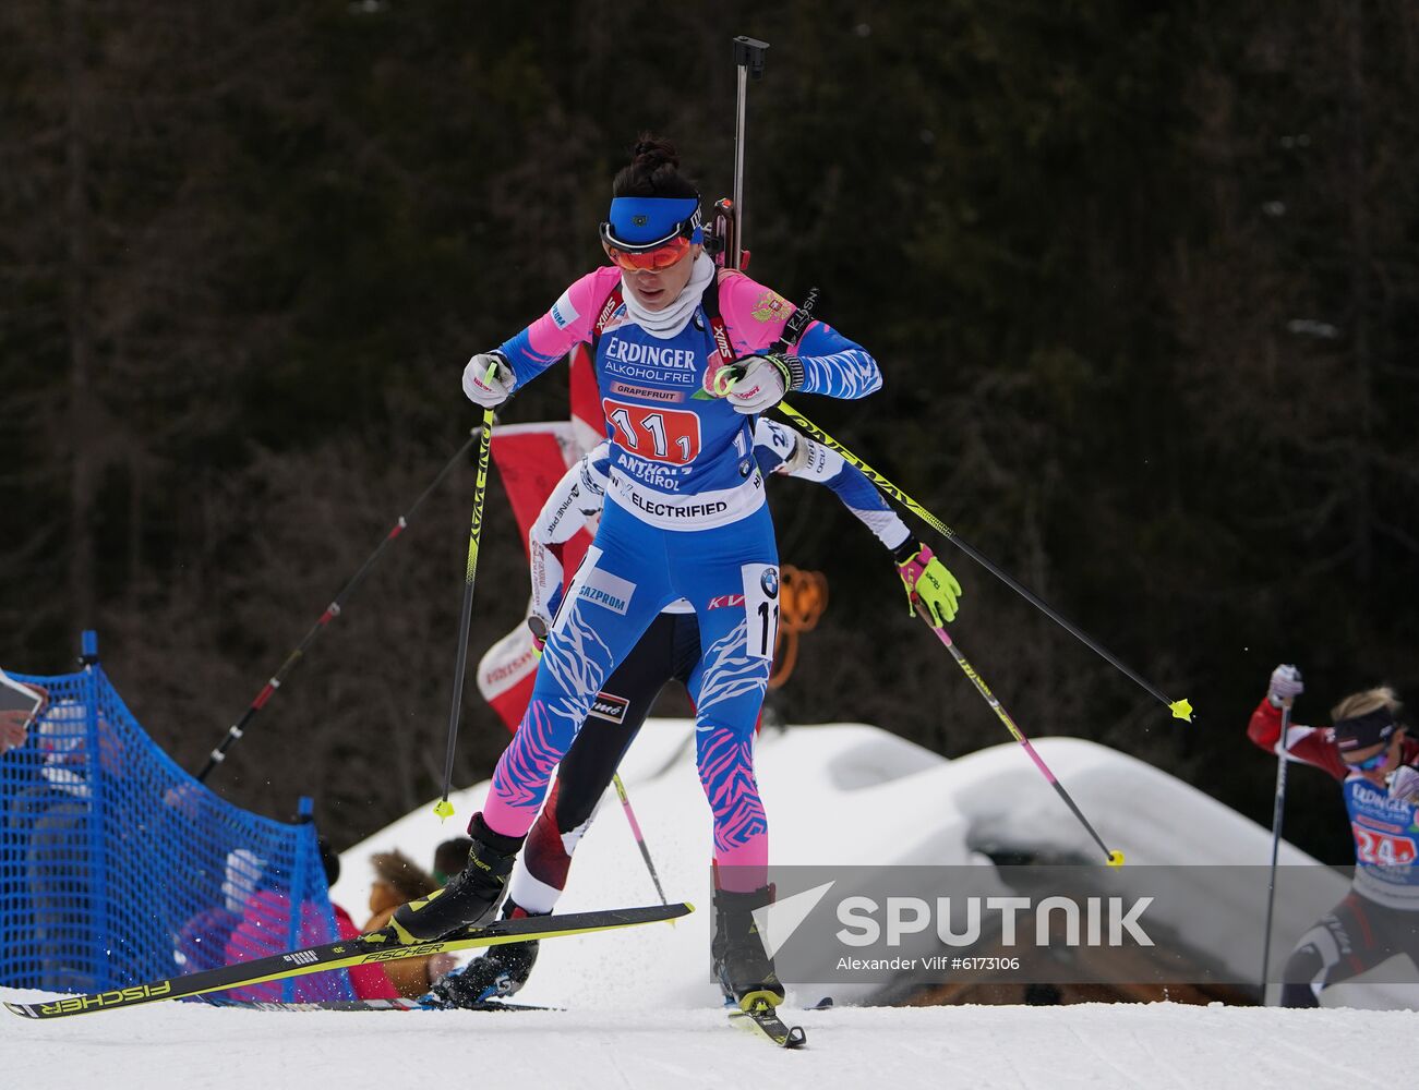
<instances>
[{"instance_id":1,"label":"blue and pink racesuit with bib 11 on the front woman skier","mask_svg":"<svg viewBox=\"0 0 1419 1090\"><path fill-rule=\"evenodd\" d=\"M711 394L714 374L731 360L717 347L702 302L688 325L661 336L639 325L624 302L616 305L620 275L607 266L582 276L498 349L521 387L578 342L596 343L610 488L596 539L548 636L526 714L492 774L482 819L497 833L526 833L606 678L660 611L685 598L702 646L691 697L714 856L722 876L738 876L725 879L727 887L753 889L768 865L753 724L772 665L779 591L753 417ZM773 346L795 308L741 272L717 278L734 356ZM705 295L712 291L714 278ZM807 326L792 353L805 393L856 398L881 386L873 357L822 322Z\"/></svg>"}]
</instances>

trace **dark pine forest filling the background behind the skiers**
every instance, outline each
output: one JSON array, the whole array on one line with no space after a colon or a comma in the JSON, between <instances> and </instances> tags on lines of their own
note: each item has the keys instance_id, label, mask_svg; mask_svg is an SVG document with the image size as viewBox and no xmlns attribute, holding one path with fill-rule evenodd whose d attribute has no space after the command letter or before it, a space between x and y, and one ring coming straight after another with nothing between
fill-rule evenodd
<instances>
[{"instance_id":1,"label":"dark pine forest filling the background behind the skiers","mask_svg":"<svg viewBox=\"0 0 1419 1090\"><path fill-rule=\"evenodd\" d=\"M946 546L954 635L1027 734L1266 824L1274 761L1243 731L1277 662L1305 672L1298 721L1378 682L1419 699L1403 0L10 0L0 663L67 670L96 628L200 767L463 442L468 356L602 259L637 132L728 194L734 34L772 43L752 272L820 286L885 374L802 408L1198 710ZM558 370L505 418L565 414ZM336 843L437 792L471 490L470 466L430 499L217 791L274 816L314 794ZM772 502L783 560L832 585L782 716L1007 741L876 540L807 485ZM474 656L524 588L494 486ZM470 683L457 782L505 737ZM1334 787L1290 790L1287 832L1347 859Z\"/></svg>"}]
</instances>

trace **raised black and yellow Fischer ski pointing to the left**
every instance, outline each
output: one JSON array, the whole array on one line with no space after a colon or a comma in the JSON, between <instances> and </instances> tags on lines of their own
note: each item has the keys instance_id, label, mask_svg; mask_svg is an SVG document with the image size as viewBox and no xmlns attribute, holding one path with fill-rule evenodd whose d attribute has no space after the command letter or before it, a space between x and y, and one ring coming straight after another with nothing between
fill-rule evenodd
<instances>
[{"instance_id":1,"label":"raised black and yellow Fischer ski pointing to the left","mask_svg":"<svg viewBox=\"0 0 1419 1090\"><path fill-rule=\"evenodd\" d=\"M114 988L106 992L71 995L48 1002L7 1002L6 1009L24 1018L67 1018L70 1015L85 1015L92 1011L112 1011L119 1006L150 1004L158 999L180 999L184 995L201 995L203 992L220 992L228 988L265 984L267 981L280 981L287 977L302 977L308 972L403 961L404 958L492 947L504 943L524 943L534 938L558 938L561 936L586 934L589 931L609 931L617 927L634 927L637 924L658 923L660 920L674 920L691 911L694 911L694 906L681 901L678 904L654 904L646 909L609 909L604 911L569 913L552 917L528 916L518 920L498 920L485 927L458 933L451 938L438 938L412 945L399 945L389 933L375 931L359 938L326 943L325 945L309 947L307 950L292 950L288 954L274 954L268 958L238 961L233 965L190 972L186 977L169 977L167 979L136 984L128 988Z\"/></svg>"}]
</instances>

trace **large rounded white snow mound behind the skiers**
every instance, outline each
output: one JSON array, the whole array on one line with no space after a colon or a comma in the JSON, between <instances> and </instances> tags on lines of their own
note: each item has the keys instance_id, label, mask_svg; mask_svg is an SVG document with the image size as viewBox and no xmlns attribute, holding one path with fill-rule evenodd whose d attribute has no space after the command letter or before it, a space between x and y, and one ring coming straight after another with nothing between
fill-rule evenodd
<instances>
[{"instance_id":1,"label":"large rounded white snow mound behind the skiers","mask_svg":"<svg viewBox=\"0 0 1419 1090\"><path fill-rule=\"evenodd\" d=\"M1208 958L1250 979L1259 970L1254 904L1235 903L1218 865L1264 866L1270 832L1196 788L1125 754L1078 738L1043 738L1036 750L1130 867L1212 865L1179 879L1183 892L1166 923ZM759 787L771 821L771 858L793 865L989 865L989 856L1101 862L1098 846L1015 743L945 760L863 724L765 731L756 744ZM626 782L666 894L710 904L710 811L694 763L692 720L651 720L623 763ZM431 804L350 848L335 900L360 918L373 852L399 848L424 866L436 845L458 835L487 784L454 797L458 819L440 824ZM565 911L653 904L656 892L617 814L613 792L582 841ZM1314 860L1283 846L1283 863ZM1127 879L1124 879L1127 890ZM1235 883L1233 883L1235 884ZM1345 884L1335 882L1340 900ZM1191 900L1189 900L1191 899ZM1205 904L1206 916L1188 910ZM1218 913L1229 923L1218 926ZM1300 913L1300 914L1298 914ZM1315 913L1279 906L1277 934L1296 936ZM1200 923L1205 920L1205 923ZM614 1009L626 1004L694 1009L714 1004L708 971L710 913L674 927L559 938L543 944L519 998L536 1004ZM834 987L839 1002L861 1002L867 987ZM817 995L795 996L806 1004ZM1385 1002L1391 1002L1386 999Z\"/></svg>"}]
</instances>

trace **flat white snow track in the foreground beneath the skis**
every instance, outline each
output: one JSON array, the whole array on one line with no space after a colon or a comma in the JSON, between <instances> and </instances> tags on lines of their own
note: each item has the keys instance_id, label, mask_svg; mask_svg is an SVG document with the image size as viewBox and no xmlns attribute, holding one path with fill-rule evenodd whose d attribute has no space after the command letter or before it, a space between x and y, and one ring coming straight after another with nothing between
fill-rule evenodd
<instances>
[{"instance_id":1,"label":"flat white snow track in the foreground beneath the skis","mask_svg":"<svg viewBox=\"0 0 1419 1090\"><path fill-rule=\"evenodd\" d=\"M155 1004L51 1023L7 1018L0 1086L1355 1090L1396 1084L1413 1028L1399 1012L1174 1004L854 1008L800 1022L807 1047L783 1052L705 1009L647 1006L616 1019Z\"/></svg>"}]
</instances>

